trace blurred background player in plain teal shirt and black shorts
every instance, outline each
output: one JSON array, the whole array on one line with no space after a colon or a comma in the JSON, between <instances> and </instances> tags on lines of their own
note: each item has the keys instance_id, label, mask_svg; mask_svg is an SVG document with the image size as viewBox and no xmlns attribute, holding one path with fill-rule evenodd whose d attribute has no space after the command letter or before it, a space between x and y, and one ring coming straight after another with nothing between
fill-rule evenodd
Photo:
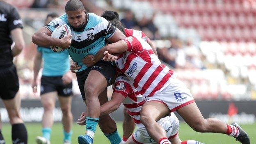
<instances>
[{"instance_id":1,"label":"blurred background player in plain teal shirt and black shorts","mask_svg":"<svg viewBox=\"0 0 256 144\"><path fill-rule=\"evenodd\" d=\"M56 13L50 13L46 17L46 24L59 17ZM62 110L62 124L64 144L71 144L72 122L71 95L72 73L69 70L70 60L67 50L59 53L53 52L50 47L38 46L34 59L33 91L37 92L37 75L43 59L43 74L41 77L41 103L43 105L42 133L36 138L37 144L50 144L51 127L53 126L53 110L57 96Z\"/></svg>"}]
</instances>

